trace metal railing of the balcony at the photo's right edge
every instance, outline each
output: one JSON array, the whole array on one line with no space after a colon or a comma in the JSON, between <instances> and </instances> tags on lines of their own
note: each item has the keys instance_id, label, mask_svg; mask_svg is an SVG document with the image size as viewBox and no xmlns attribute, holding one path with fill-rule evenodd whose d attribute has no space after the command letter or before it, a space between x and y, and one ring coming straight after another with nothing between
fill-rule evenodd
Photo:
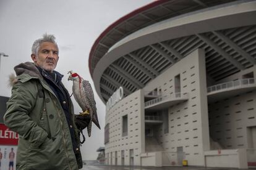
<instances>
[{"instance_id":1,"label":"metal railing of the balcony at the photo's right edge","mask_svg":"<svg viewBox=\"0 0 256 170\"><path fill-rule=\"evenodd\" d=\"M214 91L220 91L223 89L229 89L234 87L239 87L243 85L249 85L254 84L255 80L254 78L248 78L248 79L237 79L236 81L229 81L226 83L216 84L214 86L207 87L207 92L214 92Z\"/></svg>"}]
</instances>

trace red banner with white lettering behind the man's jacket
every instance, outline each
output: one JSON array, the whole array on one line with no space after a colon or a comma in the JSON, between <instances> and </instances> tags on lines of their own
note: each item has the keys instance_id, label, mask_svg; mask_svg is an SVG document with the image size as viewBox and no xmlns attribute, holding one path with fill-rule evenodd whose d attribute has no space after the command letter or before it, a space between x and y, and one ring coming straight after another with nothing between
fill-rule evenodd
<instances>
[{"instance_id":1,"label":"red banner with white lettering behind the man's jacket","mask_svg":"<svg viewBox=\"0 0 256 170\"><path fill-rule=\"evenodd\" d=\"M18 145L19 135L6 125L0 124L0 145Z\"/></svg>"}]
</instances>

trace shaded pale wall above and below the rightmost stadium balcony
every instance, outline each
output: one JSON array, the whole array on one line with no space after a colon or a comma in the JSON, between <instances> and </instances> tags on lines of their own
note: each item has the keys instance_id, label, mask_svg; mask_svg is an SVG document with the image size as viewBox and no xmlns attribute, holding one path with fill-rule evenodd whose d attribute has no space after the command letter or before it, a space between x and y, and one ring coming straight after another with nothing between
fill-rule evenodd
<instances>
[{"instance_id":1,"label":"shaded pale wall above and below the rightmost stadium balcony","mask_svg":"<svg viewBox=\"0 0 256 170\"><path fill-rule=\"evenodd\" d=\"M216 84L242 79L247 73L254 73L256 66L239 71L227 78L221 79ZM254 148L252 142L255 132L250 128L256 127L256 91L252 90L244 94L227 97L226 99L210 103L208 105L210 136L218 142L222 148ZM248 129L249 128L249 129Z\"/></svg>"}]
</instances>

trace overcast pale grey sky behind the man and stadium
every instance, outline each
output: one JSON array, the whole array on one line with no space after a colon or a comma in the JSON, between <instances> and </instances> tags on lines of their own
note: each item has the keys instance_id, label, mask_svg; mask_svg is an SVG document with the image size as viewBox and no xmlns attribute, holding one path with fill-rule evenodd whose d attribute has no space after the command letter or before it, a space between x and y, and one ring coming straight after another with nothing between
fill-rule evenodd
<instances>
[{"instance_id":1,"label":"overcast pale grey sky behind the man and stadium","mask_svg":"<svg viewBox=\"0 0 256 170\"><path fill-rule=\"evenodd\" d=\"M32 62L31 47L44 33L54 34L59 46L56 71L64 75L63 83L72 91L67 81L67 71L73 70L93 85L88 69L88 55L96 38L109 25L153 0L0 0L0 95L10 97L8 76L21 62ZM94 89L94 87L93 87ZM75 113L79 113L79 105ZM105 105L95 92L101 130L93 124L92 136L82 146L83 160L95 160L96 149L104 146Z\"/></svg>"}]
</instances>

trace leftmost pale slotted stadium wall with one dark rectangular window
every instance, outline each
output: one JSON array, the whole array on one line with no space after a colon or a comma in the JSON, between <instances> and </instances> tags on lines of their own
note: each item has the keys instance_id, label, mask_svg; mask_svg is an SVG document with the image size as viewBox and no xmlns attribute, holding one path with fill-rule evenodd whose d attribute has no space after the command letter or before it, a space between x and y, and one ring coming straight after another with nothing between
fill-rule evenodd
<instances>
[{"instance_id":1,"label":"leftmost pale slotted stadium wall with one dark rectangular window","mask_svg":"<svg viewBox=\"0 0 256 170\"><path fill-rule=\"evenodd\" d=\"M122 136L122 116L128 117L128 134ZM106 113L109 123L109 142L105 144L105 155L112 154L112 164L117 151L117 164L121 165L121 150L124 150L125 165L130 163L130 149L134 149L134 165L140 165L140 153L145 151L144 99L142 91L136 91L120 100Z\"/></svg>"}]
</instances>

